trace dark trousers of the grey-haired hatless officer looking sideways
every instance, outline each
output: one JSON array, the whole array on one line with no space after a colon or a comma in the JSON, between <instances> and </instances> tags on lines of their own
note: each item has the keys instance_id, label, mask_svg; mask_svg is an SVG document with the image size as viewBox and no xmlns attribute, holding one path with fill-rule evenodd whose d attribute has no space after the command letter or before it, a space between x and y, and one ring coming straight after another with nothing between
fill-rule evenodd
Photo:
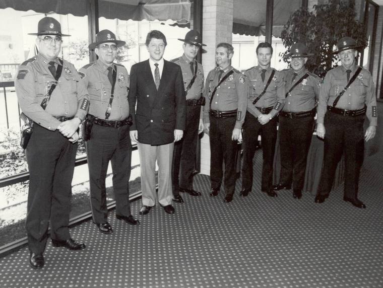
<instances>
[{"instance_id":1,"label":"dark trousers of the grey-haired hatless officer looking sideways","mask_svg":"<svg viewBox=\"0 0 383 288\"><path fill-rule=\"evenodd\" d=\"M210 116L210 181L212 189L219 190L225 165L225 192L233 195L235 189L235 163L238 144L231 139L235 117L216 118Z\"/></svg>"}]
</instances>

